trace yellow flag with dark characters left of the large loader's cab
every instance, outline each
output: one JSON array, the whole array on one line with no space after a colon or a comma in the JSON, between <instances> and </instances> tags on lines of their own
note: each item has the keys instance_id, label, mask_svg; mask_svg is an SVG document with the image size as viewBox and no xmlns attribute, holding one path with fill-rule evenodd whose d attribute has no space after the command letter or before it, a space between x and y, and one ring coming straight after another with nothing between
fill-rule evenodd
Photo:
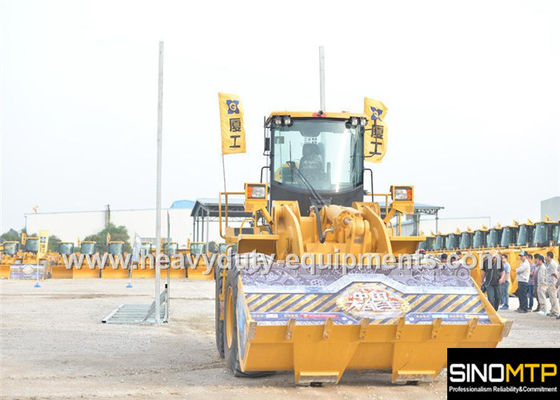
<instances>
[{"instance_id":1,"label":"yellow flag with dark characters left of the large loader's cab","mask_svg":"<svg viewBox=\"0 0 560 400\"><path fill-rule=\"evenodd\" d=\"M245 125L239 97L234 94L218 93L218 99L222 128L222 154L245 153Z\"/></svg>"}]
</instances>

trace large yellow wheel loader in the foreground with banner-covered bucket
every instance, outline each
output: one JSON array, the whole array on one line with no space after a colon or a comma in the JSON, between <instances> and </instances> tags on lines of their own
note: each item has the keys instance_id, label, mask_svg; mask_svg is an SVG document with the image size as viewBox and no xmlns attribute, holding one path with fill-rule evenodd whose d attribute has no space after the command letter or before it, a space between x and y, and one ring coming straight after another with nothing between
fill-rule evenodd
<instances>
[{"instance_id":1,"label":"large yellow wheel loader in the foreground with banner-covered bucket","mask_svg":"<svg viewBox=\"0 0 560 400\"><path fill-rule=\"evenodd\" d=\"M394 382L432 380L447 348L495 347L509 333L467 268L391 257L425 238L387 228L414 212L411 186L391 187L384 215L373 196L364 201L365 126L363 114L272 113L268 183L220 193L220 232L230 196L244 195L252 214L249 230L225 223L236 251L216 272L217 347L235 376L288 370L297 384L321 384L390 370Z\"/></svg>"}]
</instances>

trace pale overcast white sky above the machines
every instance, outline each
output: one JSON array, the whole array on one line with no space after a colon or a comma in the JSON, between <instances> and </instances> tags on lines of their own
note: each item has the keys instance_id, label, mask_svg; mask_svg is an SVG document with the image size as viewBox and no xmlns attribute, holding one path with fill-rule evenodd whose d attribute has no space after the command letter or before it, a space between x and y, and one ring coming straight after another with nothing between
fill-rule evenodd
<instances>
[{"instance_id":1,"label":"pale overcast white sky above the machines","mask_svg":"<svg viewBox=\"0 0 560 400\"><path fill-rule=\"evenodd\" d=\"M388 107L376 191L413 184L443 217L538 219L560 195L557 1L0 1L1 230L24 213L155 206L158 40L163 205L222 189L218 91L241 96L257 181L263 116Z\"/></svg>"}]
</instances>

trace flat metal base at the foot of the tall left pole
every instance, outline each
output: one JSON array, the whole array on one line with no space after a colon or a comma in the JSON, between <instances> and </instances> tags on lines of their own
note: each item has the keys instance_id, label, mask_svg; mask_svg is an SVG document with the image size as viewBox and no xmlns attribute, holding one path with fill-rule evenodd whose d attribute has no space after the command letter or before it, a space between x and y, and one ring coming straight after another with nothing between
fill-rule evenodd
<instances>
[{"instance_id":1,"label":"flat metal base at the foot of the tall left pole","mask_svg":"<svg viewBox=\"0 0 560 400\"><path fill-rule=\"evenodd\" d=\"M169 321L169 292L167 285L160 295L160 321ZM155 301L152 304L121 304L101 320L104 324L154 325Z\"/></svg>"}]
</instances>

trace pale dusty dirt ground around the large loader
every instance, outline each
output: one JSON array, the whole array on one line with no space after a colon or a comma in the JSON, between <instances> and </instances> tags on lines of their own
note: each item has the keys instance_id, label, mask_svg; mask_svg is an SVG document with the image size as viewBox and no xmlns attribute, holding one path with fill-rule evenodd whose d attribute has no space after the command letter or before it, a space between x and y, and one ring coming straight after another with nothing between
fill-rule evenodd
<instances>
[{"instance_id":1,"label":"pale dusty dirt ground around the large loader","mask_svg":"<svg viewBox=\"0 0 560 400\"><path fill-rule=\"evenodd\" d=\"M213 282L172 281L171 320L160 327L100 321L123 303L148 304L153 281L0 281L0 394L7 399L445 398L433 384L393 385L388 373L347 372L340 384L297 387L291 373L230 376L214 344ZM510 308L516 308L512 299ZM505 311L503 347L560 347L560 321Z\"/></svg>"}]
</instances>

